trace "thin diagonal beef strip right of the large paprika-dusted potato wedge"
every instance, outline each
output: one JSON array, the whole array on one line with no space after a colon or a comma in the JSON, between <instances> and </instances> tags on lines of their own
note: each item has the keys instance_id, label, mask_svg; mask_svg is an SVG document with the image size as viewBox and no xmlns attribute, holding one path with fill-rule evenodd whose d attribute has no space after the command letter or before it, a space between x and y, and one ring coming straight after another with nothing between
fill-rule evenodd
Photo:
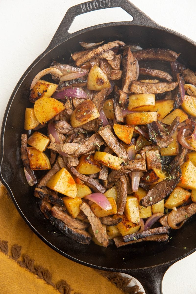
<instances>
[{"instance_id":1,"label":"thin diagonal beef strip right of the large paprika-dusted potato wedge","mask_svg":"<svg viewBox=\"0 0 196 294\"><path fill-rule=\"evenodd\" d=\"M85 175L82 175L76 169L71 166L69 163L67 165L69 171L71 171L77 178L79 178L81 181L84 181L87 186L89 186L91 189L93 189L94 192L100 192L100 193L105 193L105 188L101 186L100 183L95 181L92 178L89 178Z\"/></svg>"}]
</instances>

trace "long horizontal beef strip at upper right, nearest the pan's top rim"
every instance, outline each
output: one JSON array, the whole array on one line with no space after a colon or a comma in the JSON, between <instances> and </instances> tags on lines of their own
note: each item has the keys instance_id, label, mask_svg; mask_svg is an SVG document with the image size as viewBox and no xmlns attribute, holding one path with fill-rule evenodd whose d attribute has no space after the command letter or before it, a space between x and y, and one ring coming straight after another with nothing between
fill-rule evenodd
<instances>
[{"instance_id":1,"label":"long horizontal beef strip at upper right, nearest the pan's top rim","mask_svg":"<svg viewBox=\"0 0 196 294\"><path fill-rule=\"evenodd\" d=\"M150 48L133 52L133 56L140 60L165 60L175 61L178 54L169 49Z\"/></svg>"}]
</instances>

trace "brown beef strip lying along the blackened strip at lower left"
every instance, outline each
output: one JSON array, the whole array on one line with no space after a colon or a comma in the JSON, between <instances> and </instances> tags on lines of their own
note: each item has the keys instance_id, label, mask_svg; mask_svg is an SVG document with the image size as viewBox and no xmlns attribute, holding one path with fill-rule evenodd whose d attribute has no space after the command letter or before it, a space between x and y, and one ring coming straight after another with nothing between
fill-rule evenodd
<instances>
[{"instance_id":1,"label":"brown beef strip lying along the blackened strip at lower left","mask_svg":"<svg viewBox=\"0 0 196 294\"><path fill-rule=\"evenodd\" d=\"M50 213L53 217L58 218L59 220L62 220L63 223L68 225L70 228L86 229L88 227L88 223L84 223L81 220L74 219L68 213L62 211L56 206L53 206Z\"/></svg>"}]
</instances>

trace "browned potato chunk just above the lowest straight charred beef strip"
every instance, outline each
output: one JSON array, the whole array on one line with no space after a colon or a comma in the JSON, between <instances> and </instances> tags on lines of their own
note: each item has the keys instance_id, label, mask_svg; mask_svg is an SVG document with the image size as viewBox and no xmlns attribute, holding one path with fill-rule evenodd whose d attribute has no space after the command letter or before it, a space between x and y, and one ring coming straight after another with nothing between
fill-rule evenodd
<instances>
[{"instance_id":1,"label":"browned potato chunk just above the lowest straight charred beef strip","mask_svg":"<svg viewBox=\"0 0 196 294\"><path fill-rule=\"evenodd\" d=\"M118 223L118 225L116 225L117 229L120 231L120 234L122 236L134 234L139 230L140 225L137 223L132 223L130 220L126 218L124 214L122 216L119 216L119 215L114 216L114 218L117 218L117 217L122 218L122 221Z\"/></svg>"}]
</instances>

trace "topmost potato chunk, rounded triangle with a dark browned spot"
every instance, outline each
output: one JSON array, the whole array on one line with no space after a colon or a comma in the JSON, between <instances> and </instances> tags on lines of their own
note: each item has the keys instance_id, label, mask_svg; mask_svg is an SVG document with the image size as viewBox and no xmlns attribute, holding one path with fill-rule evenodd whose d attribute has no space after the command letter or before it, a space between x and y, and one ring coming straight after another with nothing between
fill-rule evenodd
<instances>
[{"instance_id":1,"label":"topmost potato chunk, rounded triangle with a dark browned spot","mask_svg":"<svg viewBox=\"0 0 196 294\"><path fill-rule=\"evenodd\" d=\"M110 88L108 77L97 65L93 65L88 73L87 88L93 91L100 91Z\"/></svg>"}]
</instances>

